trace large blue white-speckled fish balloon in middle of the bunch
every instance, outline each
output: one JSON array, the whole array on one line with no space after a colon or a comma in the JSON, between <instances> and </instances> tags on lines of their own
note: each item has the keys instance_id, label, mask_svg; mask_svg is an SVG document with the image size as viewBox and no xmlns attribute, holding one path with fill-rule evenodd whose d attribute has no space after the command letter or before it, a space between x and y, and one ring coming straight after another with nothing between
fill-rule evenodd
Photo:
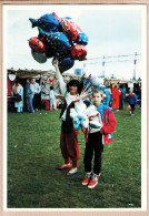
<instances>
[{"instance_id":1,"label":"large blue white-speckled fish balloon in middle of the bunch","mask_svg":"<svg viewBox=\"0 0 149 216\"><path fill-rule=\"evenodd\" d=\"M70 48L69 40L62 32L48 33L39 28L39 33L48 39L53 53L62 53Z\"/></svg>"}]
</instances>

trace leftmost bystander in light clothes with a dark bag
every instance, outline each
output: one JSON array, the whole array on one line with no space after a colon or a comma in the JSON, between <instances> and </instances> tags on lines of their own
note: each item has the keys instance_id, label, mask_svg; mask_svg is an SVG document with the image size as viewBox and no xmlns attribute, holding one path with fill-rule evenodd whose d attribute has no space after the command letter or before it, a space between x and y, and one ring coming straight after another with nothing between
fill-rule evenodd
<instances>
[{"instance_id":1,"label":"leftmost bystander in light clothes with a dark bag","mask_svg":"<svg viewBox=\"0 0 149 216\"><path fill-rule=\"evenodd\" d=\"M23 88L16 81L14 85L12 86L12 96L14 96L14 107L17 109L17 113L22 113L23 109Z\"/></svg>"}]
</instances>

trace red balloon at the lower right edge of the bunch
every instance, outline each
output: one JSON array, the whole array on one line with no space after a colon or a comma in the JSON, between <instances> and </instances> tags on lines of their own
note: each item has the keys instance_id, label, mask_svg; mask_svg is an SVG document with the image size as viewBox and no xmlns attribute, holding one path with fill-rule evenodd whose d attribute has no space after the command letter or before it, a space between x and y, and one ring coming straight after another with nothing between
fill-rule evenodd
<instances>
[{"instance_id":1,"label":"red balloon at the lower right edge of the bunch","mask_svg":"<svg viewBox=\"0 0 149 216\"><path fill-rule=\"evenodd\" d=\"M79 61L82 61L82 60L86 60L86 55L87 55L87 49L85 48L85 45L73 45L71 49L70 49L70 53L71 53L71 56L74 59L74 60L79 60Z\"/></svg>"}]
</instances>

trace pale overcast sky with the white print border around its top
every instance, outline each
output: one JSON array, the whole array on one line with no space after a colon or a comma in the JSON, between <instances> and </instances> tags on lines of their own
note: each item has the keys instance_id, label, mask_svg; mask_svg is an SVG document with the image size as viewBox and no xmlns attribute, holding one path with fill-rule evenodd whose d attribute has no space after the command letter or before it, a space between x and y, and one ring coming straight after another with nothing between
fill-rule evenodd
<instances>
[{"instance_id":1,"label":"pale overcast sky with the white print border around its top","mask_svg":"<svg viewBox=\"0 0 149 216\"><path fill-rule=\"evenodd\" d=\"M136 78L142 76L146 56L146 6L4 6L3 11L4 60L8 69L54 70L52 59L39 63L32 58L28 40L38 37L38 29L31 27L29 18L38 19L46 13L56 12L60 18L72 18L89 37L86 45L87 60L76 60L73 68L66 72L74 73L74 69L82 69L87 74L101 75L103 55L131 55L127 59L112 58L115 62L105 64L106 78L113 74L118 79L129 80L133 75L133 55L137 52L140 55L136 64Z\"/></svg>"}]
</instances>

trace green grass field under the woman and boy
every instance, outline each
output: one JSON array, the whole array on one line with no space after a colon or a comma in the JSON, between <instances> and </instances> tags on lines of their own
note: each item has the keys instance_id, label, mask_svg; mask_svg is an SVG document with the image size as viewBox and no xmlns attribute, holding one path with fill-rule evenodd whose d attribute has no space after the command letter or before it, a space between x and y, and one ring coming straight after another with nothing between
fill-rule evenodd
<instances>
[{"instance_id":1,"label":"green grass field under the woman and boy","mask_svg":"<svg viewBox=\"0 0 149 216\"><path fill-rule=\"evenodd\" d=\"M58 111L8 113L8 208L141 207L141 110L115 112L115 141L105 145L102 176L82 186L85 138L79 131L79 173L66 176ZM132 204L132 205L130 205Z\"/></svg>"}]
</instances>

